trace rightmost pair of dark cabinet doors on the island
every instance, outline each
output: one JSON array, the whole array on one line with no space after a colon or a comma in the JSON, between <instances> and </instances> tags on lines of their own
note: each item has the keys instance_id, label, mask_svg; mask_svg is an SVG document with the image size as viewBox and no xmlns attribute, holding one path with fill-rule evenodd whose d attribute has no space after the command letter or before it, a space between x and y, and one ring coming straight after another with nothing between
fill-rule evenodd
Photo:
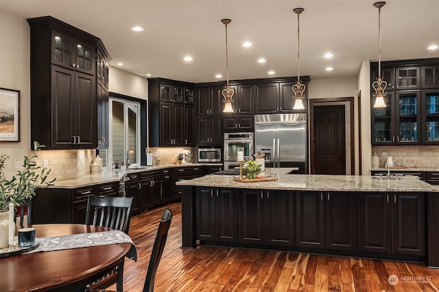
<instances>
[{"instance_id":1,"label":"rightmost pair of dark cabinet doors on the island","mask_svg":"<svg viewBox=\"0 0 439 292\"><path fill-rule=\"evenodd\" d=\"M361 194L359 198L360 251L425 255L424 194Z\"/></svg>"}]
</instances>

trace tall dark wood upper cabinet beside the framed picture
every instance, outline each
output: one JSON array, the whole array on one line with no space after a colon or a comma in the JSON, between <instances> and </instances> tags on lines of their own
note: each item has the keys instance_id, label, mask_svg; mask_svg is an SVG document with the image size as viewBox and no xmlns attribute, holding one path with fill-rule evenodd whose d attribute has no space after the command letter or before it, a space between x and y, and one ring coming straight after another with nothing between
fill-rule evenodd
<instances>
[{"instance_id":1,"label":"tall dark wood upper cabinet beside the framed picture","mask_svg":"<svg viewBox=\"0 0 439 292\"><path fill-rule=\"evenodd\" d=\"M27 22L31 31L31 141L45 144L48 150L96 148L98 140L108 134L108 123L98 126L97 122L98 103L108 107L111 58L104 44L51 16ZM99 109L99 113L100 121L104 111ZM108 142L108 135L103 141L104 145Z\"/></svg>"}]
</instances>

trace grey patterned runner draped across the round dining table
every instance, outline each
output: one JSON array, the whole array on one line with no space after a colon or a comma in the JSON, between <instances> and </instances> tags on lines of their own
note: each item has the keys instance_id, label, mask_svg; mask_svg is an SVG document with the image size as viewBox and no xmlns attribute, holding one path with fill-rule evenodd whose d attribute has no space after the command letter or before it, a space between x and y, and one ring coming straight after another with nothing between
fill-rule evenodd
<instances>
[{"instance_id":1,"label":"grey patterned runner draped across the round dining table","mask_svg":"<svg viewBox=\"0 0 439 292\"><path fill-rule=\"evenodd\" d=\"M71 248L89 248L98 245L116 243L131 243L131 248L126 254L128 258L137 262L137 248L132 239L120 230L101 231L97 233L78 233L56 237L40 237L40 246L30 252L51 252L54 250L69 250Z\"/></svg>"}]
</instances>

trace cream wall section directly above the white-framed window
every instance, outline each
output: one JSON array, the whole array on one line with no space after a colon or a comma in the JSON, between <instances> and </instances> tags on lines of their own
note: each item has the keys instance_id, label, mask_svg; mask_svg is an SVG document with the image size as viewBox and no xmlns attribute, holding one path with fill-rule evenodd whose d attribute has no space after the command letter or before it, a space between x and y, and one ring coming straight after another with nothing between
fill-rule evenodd
<instances>
[{"instance_id":1,"label":"cream wall section directly above the white-framed window","mask_svg":"<svg viewBox=\"0 0 439 292\"><path fill-rule=\"evenodd\" d=\"M108 87L110 92L143 100L148 99L148 81L145 77L134 75L113 66L110 66L108 70Z\"/></svg>"}]
</instances>

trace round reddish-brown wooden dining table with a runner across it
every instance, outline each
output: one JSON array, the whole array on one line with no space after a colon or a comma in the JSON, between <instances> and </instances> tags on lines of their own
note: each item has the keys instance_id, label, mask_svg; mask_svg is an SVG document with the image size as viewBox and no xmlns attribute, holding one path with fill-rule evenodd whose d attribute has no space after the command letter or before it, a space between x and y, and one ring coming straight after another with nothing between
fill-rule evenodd
<instances>
[{"instance_id":1,"label":"round reddish-brown wooden dining table with a runner across it","mask_svg":"<svg viewBox=\"0 0 439 292\"><path fill-rule=\"evenodd\" d=\"M32 227L37 238L110 230L81 224ZM131 243L117 243L0 258L0 291L73 291L108 274L130 248Z\"/></svg>"}]
</instances>

